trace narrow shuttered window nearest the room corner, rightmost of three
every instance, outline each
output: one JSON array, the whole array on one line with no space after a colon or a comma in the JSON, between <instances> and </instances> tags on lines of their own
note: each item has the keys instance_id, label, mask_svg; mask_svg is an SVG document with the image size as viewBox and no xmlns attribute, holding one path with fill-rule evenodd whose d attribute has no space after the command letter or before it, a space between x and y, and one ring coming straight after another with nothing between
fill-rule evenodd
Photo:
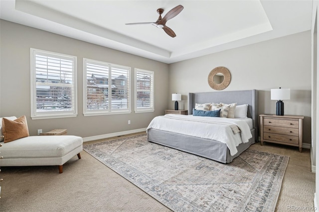
<instances>
[{"instance_id":1,"label":"narrow shuttered window nearest the room corner, rightmost of three","mask_svg":"<svg viewBox=\"0 0 319 212\"><path fill-rule=\"evenodd\" d=\"M135 112L154 111L154 72L135 69Z\"/></svg>"}]
</instances>

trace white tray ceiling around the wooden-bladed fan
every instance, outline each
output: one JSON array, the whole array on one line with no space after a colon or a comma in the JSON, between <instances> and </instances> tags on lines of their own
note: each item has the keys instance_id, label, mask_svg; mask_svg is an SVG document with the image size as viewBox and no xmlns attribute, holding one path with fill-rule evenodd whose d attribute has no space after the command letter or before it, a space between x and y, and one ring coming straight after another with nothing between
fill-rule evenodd
<instances>
[{"instance_id":1,"label":"white tray ceiling around the wooden-bladed fan","mask_svg":"<svg viewBox=\"0 0 319 212\"><path fill-rule=\"evenodd\" d=\"M184 9L153 25L173 7ZM311 29L313 0L0 0L0 18L164 63Z\"/></svg>"}]
</instances>

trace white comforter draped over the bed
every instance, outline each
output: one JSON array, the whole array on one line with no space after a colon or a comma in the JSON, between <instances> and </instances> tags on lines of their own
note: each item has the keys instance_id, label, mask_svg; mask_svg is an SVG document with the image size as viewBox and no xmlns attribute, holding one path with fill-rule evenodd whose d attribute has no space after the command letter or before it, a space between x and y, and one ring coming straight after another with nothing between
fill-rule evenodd
<instances>
[{"instance_id":1,"label":"white comforter draped over the bed","mask_svg":"<svg viewBox=\"0 0 319 212\"><path fill-rule=\"evenodd\" d=\"M240 133L233 131L234 124ZM231 155L237 153L236 146L252 137L247 122L234 118L166 114L155 117L147 130L151 128L220 141L227 145Z\"/></svg>"}]
</instances>

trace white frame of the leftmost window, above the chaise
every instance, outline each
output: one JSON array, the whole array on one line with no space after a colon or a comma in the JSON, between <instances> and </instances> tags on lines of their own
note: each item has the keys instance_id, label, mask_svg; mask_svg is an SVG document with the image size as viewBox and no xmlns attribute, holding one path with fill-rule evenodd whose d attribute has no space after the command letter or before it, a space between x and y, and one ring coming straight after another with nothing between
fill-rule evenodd
<instances>
[{"instance_id":1,"label":"white frame of the leftmost window, above the chaise","mask_svg":"<svg viewBox=\"0 0 319 212\"><path fill-rule=\"evenodd\" d=\"M59 59L68 59L73 62L72 67L72 82L73 86L69 86L73 88L72 98L73 98L73 109L68 111L37 111L36 109L36 54L55 57ZM77 107L77 57L73 55L66 55L56 52L50 52L40 49L30 48L30 88L31 88L31 119L47 119L47 118L67 118L67 117L76 117L78 114ZM59 85L58 83L56 85ZM65 85L62 87L66 87Z\"/></svg>"}]
</instances>

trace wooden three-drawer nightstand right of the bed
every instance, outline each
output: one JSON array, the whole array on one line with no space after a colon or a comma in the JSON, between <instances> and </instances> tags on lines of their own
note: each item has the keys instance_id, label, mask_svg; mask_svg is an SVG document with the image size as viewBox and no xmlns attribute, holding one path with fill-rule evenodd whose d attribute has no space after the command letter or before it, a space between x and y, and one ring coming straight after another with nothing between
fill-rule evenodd
<instances>
[{"instance_id":1,"label":"wooden three-drawer nightstand right of the bed","mask_svg":"<svg viewBox=\"0 0 319 212\"><path fill-rule=\"evenodd\" d=\"M260 144L271 143L298 146L303 151L302 115L260 115Z\"/></svg>"}]
</instances>

